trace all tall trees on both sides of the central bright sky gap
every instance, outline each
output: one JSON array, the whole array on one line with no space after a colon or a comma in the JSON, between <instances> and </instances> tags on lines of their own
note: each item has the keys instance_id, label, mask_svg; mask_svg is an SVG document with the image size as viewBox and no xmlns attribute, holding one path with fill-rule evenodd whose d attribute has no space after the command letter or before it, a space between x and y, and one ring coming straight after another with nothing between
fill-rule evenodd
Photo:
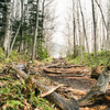
<instances>
[{"instance_id":1,"label":"all tall trees on both sides of the central bright sky gap","mask_svg":"<svg viewBox=\"0 0 110 110\"><path fill-rule=\"evenodd\" d=\"M6 57L10 56L12 50L18 50L20 54L29 54L33 61L51 55L54 45L51 43L52 36L59 24L55 21L57 16L54 13L55 7L51 6L54 0L0 1L0 46L3 47ZM67 54L70 55L73 52L74 57L81 55L82 59L85 51L88 57L91 51L95 57L99 50L109 51L110 1L73 0L72 2L72 9L68 9L72 15L66 18L66 31L63 32L67 36Z\"/></svg>"}]
</instances>

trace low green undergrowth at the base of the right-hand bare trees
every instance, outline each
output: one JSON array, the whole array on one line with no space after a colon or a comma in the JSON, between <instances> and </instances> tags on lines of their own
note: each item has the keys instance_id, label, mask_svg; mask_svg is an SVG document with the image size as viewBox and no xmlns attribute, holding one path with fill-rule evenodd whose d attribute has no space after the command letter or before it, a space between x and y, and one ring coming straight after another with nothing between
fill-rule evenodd
<instances>
[{"instance_id":1,"label":"low green undergrowth at the base of the right-hand bare trees","mask_svg":"<svg viewBox=\"0 0 110 110\"><path fill-rule=\"evenodd\" d=\"M98 52L98 56L96 58L94 57L94 53L90 53L90 58L88 58L87 53L84 53L84 62L80 59L80 56L77 56L76 58L67 56L66 61L74 64L82 64L88 67L96 67L96 66L106 66L109 58L110 58L110 52L100 51ZM108 65L110 65L110 63Z\"/></svg>"}]
</instances>

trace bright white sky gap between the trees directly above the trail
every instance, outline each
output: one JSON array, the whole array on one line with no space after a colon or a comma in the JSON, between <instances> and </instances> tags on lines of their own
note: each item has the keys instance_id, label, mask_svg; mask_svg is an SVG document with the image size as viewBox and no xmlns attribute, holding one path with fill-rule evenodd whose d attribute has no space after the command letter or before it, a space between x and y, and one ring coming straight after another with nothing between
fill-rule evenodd
<instances>
[{"instance_id":1,"label":"bright white sky gap between the trees directly above the trail","mask_svg":"<svg viewBox=\"0 0 110 110\"><path fill-rule=\"evenodd\" d=\"M64 31L64 25L65 25L65 16L67 15L67 8L72 6L70 3L72 0L55 0L57 3L56 6L56 15L58 24L58 29L56 33L54 34L53 42L58 43L58 44L64 44L64 36L63 36L63 31Z\"/></svg>"}]
</instances>

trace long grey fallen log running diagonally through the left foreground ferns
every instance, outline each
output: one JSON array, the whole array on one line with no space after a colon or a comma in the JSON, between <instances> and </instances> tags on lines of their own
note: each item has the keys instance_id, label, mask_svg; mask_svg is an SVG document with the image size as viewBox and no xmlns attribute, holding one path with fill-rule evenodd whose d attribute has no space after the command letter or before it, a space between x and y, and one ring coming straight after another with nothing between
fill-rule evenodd
<instances>
[{"instance_id":1,"label":"long grey fallen log running diagonally through the left foreground ferns","mask_svg":"<svg viewBox=\"0 0 110 110\"><path fill-rule=\"evenodd\" d=\"M15 67L14 65L11 66L20 76L22 76L24 79L26 79L29 77L28 74L25 74L23 70L19 69L18 67ZM37 81L36 79L32 78L32 82L35 82L37 88L44 91L48 91L50 87L44 86L43 84L41 84L40 81ZM76 100L68 100L66 98L63 98L61 95L58 95L57 92L53 92L50 96L50 99L53 100L61 109L63 110L79 110L77 101Z\"/></svg>"}]
</instances>

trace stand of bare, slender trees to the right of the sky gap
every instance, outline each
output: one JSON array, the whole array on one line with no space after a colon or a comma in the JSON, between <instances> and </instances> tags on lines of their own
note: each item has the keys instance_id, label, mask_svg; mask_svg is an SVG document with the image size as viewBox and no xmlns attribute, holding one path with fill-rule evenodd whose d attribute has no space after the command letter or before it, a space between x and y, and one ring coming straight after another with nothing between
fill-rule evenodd
<instances>
[{"instance_id":1,"label":"stand of bare, slender trees to the right of the sky gap","mask_svg":"<svg viewBox=\"0 0 110 110\"><path fill-rule=\"evenodd\" d=\"M78 55L81 55L81 59L84 50L88 53L88 58L90 58L89 52L94 51L94 56L97 57L99 50L110 50L109 9L109 0L106 0L105 3L99 0L73 1L74 56L76 56L77 46L78 51L80 51Z\"/></svg>"}]
</instances>

